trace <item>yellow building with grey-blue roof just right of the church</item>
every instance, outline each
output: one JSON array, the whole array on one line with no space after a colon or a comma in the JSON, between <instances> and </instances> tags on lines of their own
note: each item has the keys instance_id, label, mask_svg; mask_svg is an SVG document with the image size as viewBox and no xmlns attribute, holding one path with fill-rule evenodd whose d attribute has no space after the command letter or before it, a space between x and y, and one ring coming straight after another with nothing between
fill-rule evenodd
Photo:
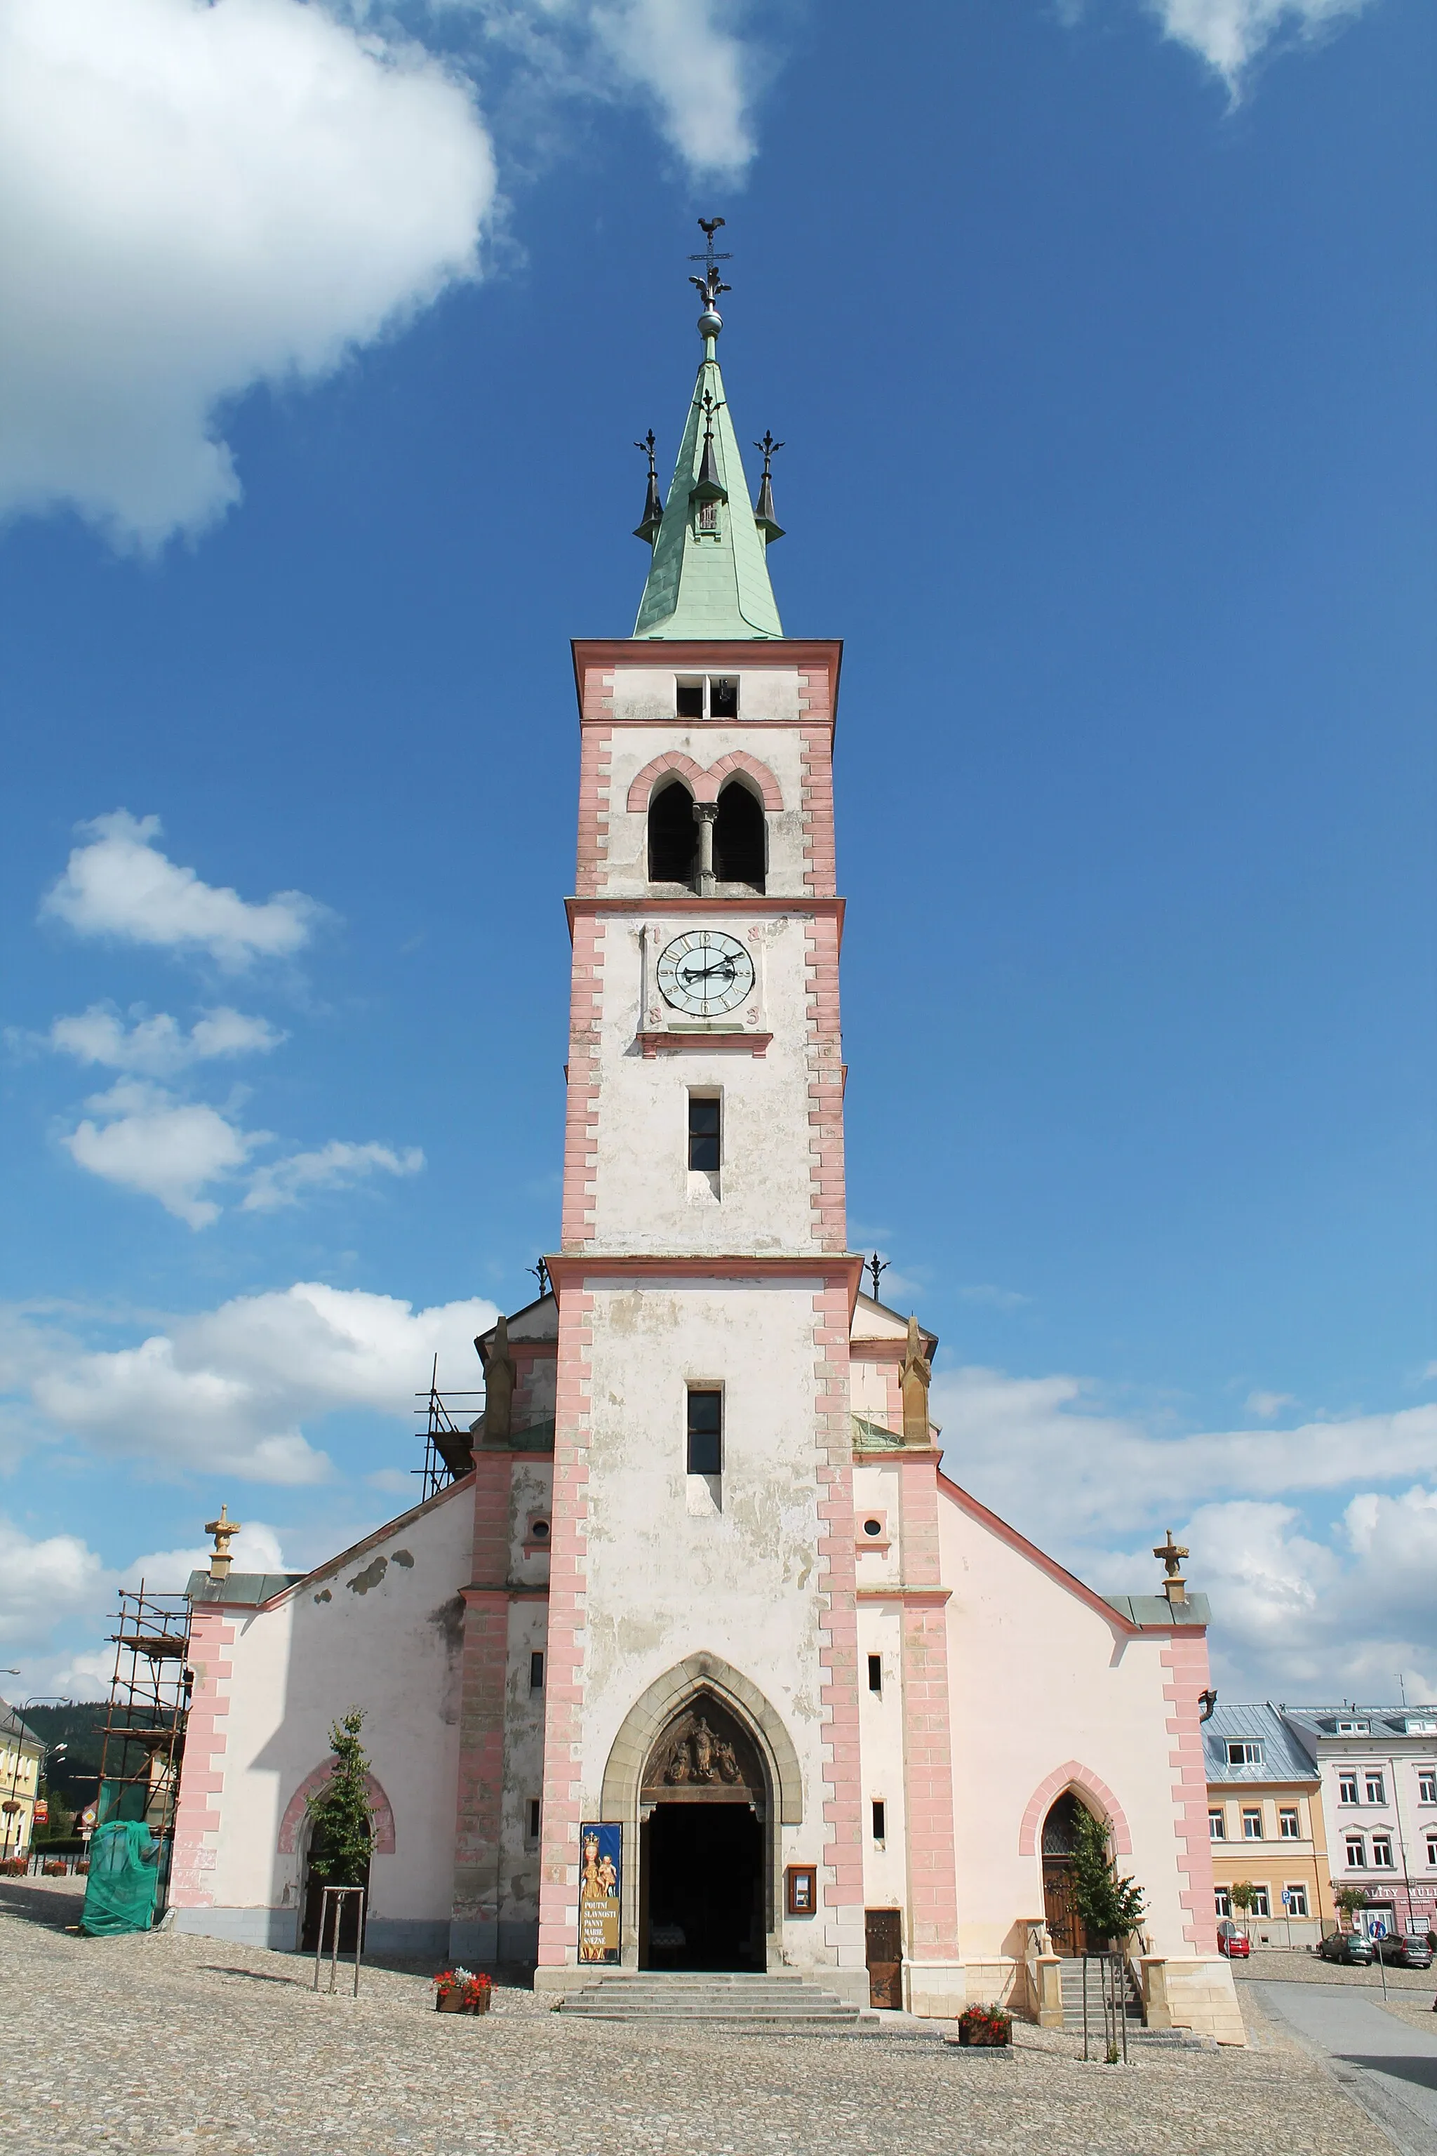
<instances>
[{"instance_id":1,"label":"yellow building with grey-blue roof just right of the church","mask_svg":"<svg viewBox=\"0 0 1437 2156\"><path fill-rule=\"evenodd\" d=\"M1314 1945L1336 1923L1316 1759L1271 1705L1215 1708L1202 1746L1217 1915L1254 1947ZM1232 1908L1243 1880L1250 1910Z\"/></svg>"}]
</instances>

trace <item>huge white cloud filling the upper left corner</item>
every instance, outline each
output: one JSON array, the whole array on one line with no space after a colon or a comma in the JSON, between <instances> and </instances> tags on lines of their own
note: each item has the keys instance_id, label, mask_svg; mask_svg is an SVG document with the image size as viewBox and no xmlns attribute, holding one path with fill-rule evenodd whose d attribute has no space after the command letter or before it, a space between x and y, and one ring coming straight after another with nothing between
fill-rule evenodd
<instances>
[{"instance_id":1,"label":"huge white cloud filling the upper left corner","mask_svg":"<svg viewBox=\"0 0 1437 2156\"><path fill-rule=\"evenodd\" d=\"M323 6L4 0L0 509L203 530L220 407L472 278L493 194L468 88Z\"/></svg>"}]
</instances>

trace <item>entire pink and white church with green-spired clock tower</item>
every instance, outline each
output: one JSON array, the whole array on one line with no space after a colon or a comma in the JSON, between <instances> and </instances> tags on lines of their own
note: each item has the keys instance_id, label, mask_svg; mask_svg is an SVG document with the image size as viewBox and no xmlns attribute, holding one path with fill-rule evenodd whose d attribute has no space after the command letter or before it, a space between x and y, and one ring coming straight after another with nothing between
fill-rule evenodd
<instances>
[{"instance_id":1,"label":"entire pink and white church with green-spired clock tower","mask_svg":"<svg viewBox=\"0 0 1437 2156\"><path fill-rule=\"evenodd\" d=\"M315 1572L190 1583L170 1906L297 1947L306 1794L364 1708L373 1949L801 1971L1062 2016L1075 1807L1146 1893L1148 2020L1241 2042L1206 1604L1101 1595L941 1468L933 1332L845 1222L832 755L702 362L633 634L580 640L562 1235L478 1343L452 1479ZM218 1539L218 1550L226 1548ZM597 1852L603 1863L597 1863ZM312 1915L310 1915L312 1923Z\"/></svg>"}]
</instances>

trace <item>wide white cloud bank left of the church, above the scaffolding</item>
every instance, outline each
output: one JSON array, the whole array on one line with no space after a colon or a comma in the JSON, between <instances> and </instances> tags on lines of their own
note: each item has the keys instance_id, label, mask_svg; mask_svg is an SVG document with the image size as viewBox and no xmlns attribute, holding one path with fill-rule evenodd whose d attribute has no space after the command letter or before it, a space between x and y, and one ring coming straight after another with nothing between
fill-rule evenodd
<instances>
[{"instance_id":1,"label":"wide white cloud bank left of the church, above the scaffolding","mask_svg":"<svg viewBox=\"0 0 1437 2156\"><path fill-rule=\"evenodd\" d=\"M483 1300L416 1311L394 1296L302 1281L99 1354L11 1313L9 1369L32 1432L162 1475L312 1483L330 1462L304 1425L345 1408L409 1423L435 1354L442 1384L446 1371L448 1384L474 1384L472 1341L496 1315Z\"/></svg>"}]
</instances>

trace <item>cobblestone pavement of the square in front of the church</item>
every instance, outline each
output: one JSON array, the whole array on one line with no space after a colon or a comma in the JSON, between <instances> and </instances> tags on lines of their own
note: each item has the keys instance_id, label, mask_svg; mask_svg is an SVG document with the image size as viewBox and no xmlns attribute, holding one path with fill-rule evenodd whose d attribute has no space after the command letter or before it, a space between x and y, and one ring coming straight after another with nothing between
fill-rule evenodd
<instances>
[{"instance_id":1,"label":"cobblestone pavement of the square in front of the church","mask_svg":"<svg viewBox=\"0 0 1437 2156\"><path fill-rule=\"evenodd\" d=\"M315 1994L287 1953L78 1938L69 1882L0 1884L0 2147L24 2156L1351 2156L1375 2128L1254 2014L1258 2048L1084 2065L933 2033L761 2037L437 2016L418 1973ZM1254 1994L1250 1994L1254 1996Z\"/></svg>"}]
</instances>

